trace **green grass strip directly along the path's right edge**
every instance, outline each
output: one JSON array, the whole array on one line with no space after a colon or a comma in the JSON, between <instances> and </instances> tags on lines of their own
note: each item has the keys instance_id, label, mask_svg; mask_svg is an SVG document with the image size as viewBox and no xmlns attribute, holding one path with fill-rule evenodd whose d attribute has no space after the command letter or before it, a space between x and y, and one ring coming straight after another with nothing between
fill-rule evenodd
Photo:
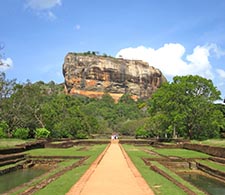
<instances>
[{"instance_id":1,"label":"green grass strip directly along the path's right edge","mask_svg":"<svg viewBox=\"0 0 225 195\"><path fill-rule=\"evenodd\" d=\"M149 155L142 151L140 148L133 145L123 145L124 149L128 153L129 157L146 180L148 185L152 188L156 195L185 195L186 193L181 190L178 186L167 180L160 174L151 170L145 165L141 158L149 158Z\"/></svg>"}]
</instances>

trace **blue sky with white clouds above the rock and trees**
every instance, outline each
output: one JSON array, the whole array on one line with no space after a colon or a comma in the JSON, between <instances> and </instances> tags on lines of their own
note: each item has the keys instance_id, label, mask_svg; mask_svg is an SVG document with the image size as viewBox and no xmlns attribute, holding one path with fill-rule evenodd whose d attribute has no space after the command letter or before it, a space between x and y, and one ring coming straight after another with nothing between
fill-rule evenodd
<instances>
[{"instance_id":1,"label":"blue sky with white clouds above the rock and trees","mask_svg":"<svg viewBox=\"0 0 225 195\"><path fill-rule=\"evenodd\" d=\"M64 81L68 52L142 59L168 80L211 79L225 97L224 0L0 0L0 66L19 82Z\"/></svg>"}]
</instances>

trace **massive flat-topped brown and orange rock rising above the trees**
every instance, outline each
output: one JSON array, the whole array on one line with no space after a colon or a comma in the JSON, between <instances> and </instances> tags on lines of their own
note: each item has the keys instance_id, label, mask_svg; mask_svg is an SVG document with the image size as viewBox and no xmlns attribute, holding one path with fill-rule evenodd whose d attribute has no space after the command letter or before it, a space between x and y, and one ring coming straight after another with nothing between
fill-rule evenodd
<instances>
[{"instance_id":1,"label":"massive flat-topped brown and orange rock rising above the trees","mask_svg":"<svg viewBox=\"0 0 225 195\"><path fill-rule=\"evenodd\" d=\"M88 97L109 93L115 101L129 93L133 99L149 98L166 82L161 71L139 60L68 53L63 64L65 91Z\"/></svg>"}]
</instances>

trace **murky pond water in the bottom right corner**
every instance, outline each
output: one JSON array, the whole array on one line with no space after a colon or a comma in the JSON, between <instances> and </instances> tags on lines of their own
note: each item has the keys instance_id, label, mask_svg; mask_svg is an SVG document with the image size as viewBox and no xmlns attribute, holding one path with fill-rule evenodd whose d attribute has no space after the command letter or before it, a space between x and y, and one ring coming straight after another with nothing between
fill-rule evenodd
<instances>
[{"instance_id":1,"label":"murky pond water in the bottom right corner","mask_svg":"<svg viewBox=\"0 0 225 195\"><path fill-rule=\"evenodd\" d=\"M207 177L198 173L180 174L180 176L199 189L202 189L205 192L209 193L210 195L225 194L225 183L217 179L213 179L211 177Z\"/></svg>"}]
</instances>

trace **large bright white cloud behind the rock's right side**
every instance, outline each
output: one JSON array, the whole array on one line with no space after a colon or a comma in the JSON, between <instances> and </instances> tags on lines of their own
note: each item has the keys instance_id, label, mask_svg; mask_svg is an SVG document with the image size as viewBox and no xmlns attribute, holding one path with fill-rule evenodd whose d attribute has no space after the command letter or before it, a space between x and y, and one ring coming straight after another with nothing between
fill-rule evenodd
<instances>
[{"instance_id":1,"label":"large bright white cloud behind the rock's right side","mask_svg":"<svg viewBox=\"0 0 225 195\"><path fill-rule=\"evenodd\" d=\"M144 46L125 48L120 50L116 57L122 56L125 59L146 61L150 66L160 69L165 76L169 77L197 74L212 79L213 73L209 56L214 48L216 48L215 45L196 46L192 54L187 55L183 45L168 43L159 49Z\"/></svg>"}]
</instances>

